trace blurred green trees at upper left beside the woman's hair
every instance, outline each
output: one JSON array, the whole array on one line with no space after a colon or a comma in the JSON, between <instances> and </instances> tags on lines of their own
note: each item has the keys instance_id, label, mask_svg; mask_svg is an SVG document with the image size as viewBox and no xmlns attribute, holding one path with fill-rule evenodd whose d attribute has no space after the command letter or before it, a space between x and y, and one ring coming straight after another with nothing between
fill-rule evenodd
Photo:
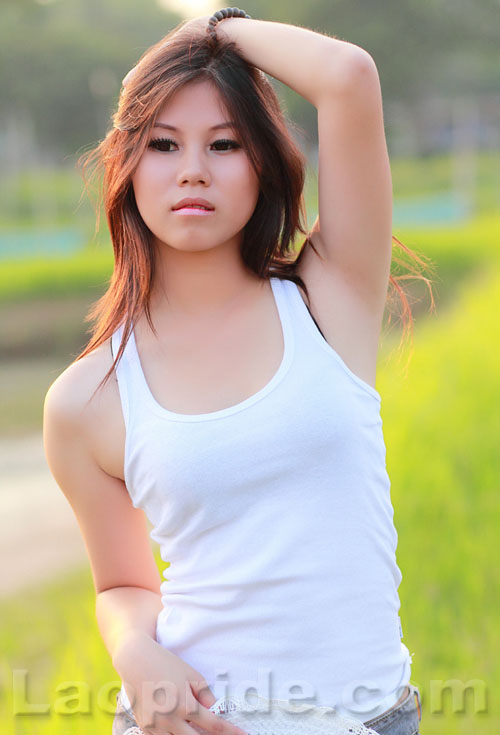
<instances>
[{"instance_id":1,"label":"blurred green trees at upper left beside the woman's hair","mask_svg":"<svg viewBox=\"0 0 500 735\"><path fill-rule=\"evenodd\" d=\"M16 112L33 117L56 157L104 135L124 74L179 22L135 0L9 0L0 18L0 128Z\"/></svg>"}]
</instances>

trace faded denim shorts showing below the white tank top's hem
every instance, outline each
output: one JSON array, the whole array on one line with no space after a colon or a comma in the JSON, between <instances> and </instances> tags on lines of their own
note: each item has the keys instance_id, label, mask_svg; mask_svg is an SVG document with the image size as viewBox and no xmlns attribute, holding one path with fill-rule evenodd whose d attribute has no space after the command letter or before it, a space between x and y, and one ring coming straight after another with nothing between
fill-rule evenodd
<instances>
[{"instance_id":1,"label":"faded denim shorts showing below the white tank top's hem","mask_svg":"<svg viewBox=\"0 0 500 735\"><path fill-rule=\"evenodd\" d=\"M413 684L408 684L408 688L410 692L402 702L364 724L379 735L419 735L418 728L422 719L420 690ZM116 704L112 735L141 735L143 730L123 707L119 692L116 695Z\"/></svg>"}]
</instances>

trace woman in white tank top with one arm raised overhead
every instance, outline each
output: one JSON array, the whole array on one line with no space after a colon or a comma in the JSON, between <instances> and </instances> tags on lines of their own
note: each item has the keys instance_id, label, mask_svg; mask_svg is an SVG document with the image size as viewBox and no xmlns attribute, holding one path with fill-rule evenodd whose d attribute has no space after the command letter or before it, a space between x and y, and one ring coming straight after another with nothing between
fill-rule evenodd
<instances>
[{"instance_id":1,"label":"woman in white tank top with one arm raised overhead","mask_svg":"<svg viewBox=\"0 0 500 735\"><path fill-rule=\"evenodd\" d=\"M414 735L374 387L396 284L376 66L308 29L208 21L141 57L85 160L115 267L44 407L123 681L113 732L236 735L214 692L255 687ZM306 162L263 72L318 113L298 257Z\"/></svg>"}]
</instances>

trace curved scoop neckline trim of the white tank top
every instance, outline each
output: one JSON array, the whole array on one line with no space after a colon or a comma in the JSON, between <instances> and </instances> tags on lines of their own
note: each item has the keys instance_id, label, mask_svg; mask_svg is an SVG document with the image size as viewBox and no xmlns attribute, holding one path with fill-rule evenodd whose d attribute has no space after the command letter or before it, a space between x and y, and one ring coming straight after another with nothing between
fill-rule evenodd
<instances>
[{"instance_id":1,"label":"curved scoop neckline trim of the white tank top","mask_svg":"<svg viewBox=\"0 0 500 735\"><path fill-rule=\"evenodd\" d=\"M141 382L143 393L148 400L151 409L157 415L171 421L213 421L215 419L230 416L232 414L238 413L239 411L243 411L250 406L253 406L254 403L257 403L257 401L267 396L272 390L274 390L274 388L276 388L276 386L281 382L286 372L288 371L288 368L290 367L293 357L294 336L291 326L290 313L288 311L288 307L285 301L284 284L281 282L281 279L275 276L271 276L269 278L269 281L271 283L271 290L274 296L274 303L276 304L276 308L278 310L282 339L284 344L281 362L272 378L266 383L266 385L263 386L263 388L258 390L256 393L253 393L251 396L248 396L248 398L245 398L243 401L233 404L232 406L226 406L226 408L221 408L217 411L209 411L208 413L178 413L177 411L171 411L165 406L162 406L161 403L159 403L153 395L146 380L146 376L142 369L139 351L137 349L137 343L135 341L134 329L131 329L131 352L129 354L136 366L136 372Z\"/></svg>"}]
</instances>

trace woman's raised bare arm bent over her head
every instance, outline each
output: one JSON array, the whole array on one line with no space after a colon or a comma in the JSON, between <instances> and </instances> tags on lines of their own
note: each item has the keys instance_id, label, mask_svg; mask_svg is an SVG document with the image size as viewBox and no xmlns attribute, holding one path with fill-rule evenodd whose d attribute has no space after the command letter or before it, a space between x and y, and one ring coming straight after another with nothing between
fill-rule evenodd
<instances>
[{"instance_id":1,"label":"woman's raised bare arm bent over her head","mask_svg":"<svg viewBox=\"0 0 500 735\"><path fill-rule=\"evenodd\" d=\"M297 272L306 283L322 281L325 294L342 290L345 303L379 320L392 259L393 192L373 58L354 44L282 23L227 18L216 32L316 107L319 214L310 239L321 259L306 248Z\"/></svg>"}]
</instances>

